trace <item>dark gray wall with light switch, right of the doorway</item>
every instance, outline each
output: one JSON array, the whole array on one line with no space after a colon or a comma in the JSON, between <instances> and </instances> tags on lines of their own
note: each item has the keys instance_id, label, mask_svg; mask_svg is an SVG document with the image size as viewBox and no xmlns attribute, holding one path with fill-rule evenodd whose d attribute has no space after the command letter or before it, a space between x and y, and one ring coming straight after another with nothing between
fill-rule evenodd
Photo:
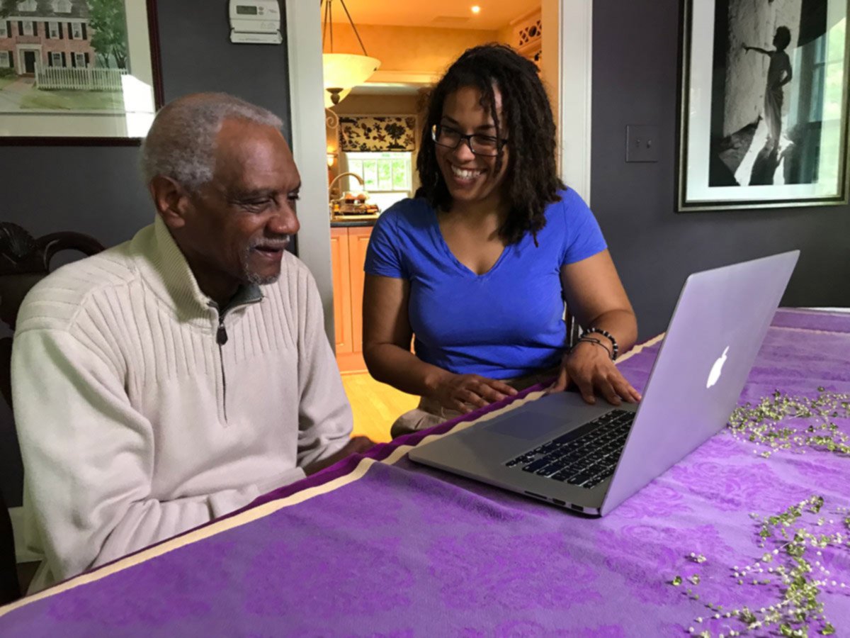
<instances>
[{"instance_id":1,"label":"dark gray wall with light switch, right of the doorway","mask_svg":"<svg viewBox=\"0 0 850 638\"><path fill-rule=\"evenodd\" d=\"M593 3L591 205L638 314L666 328L685 277L800 248L783 305L850 305L850 207L675 212L678 0ZM660 128L660 162L626 163L626 124Z\"/></svg>"}]
</instances>

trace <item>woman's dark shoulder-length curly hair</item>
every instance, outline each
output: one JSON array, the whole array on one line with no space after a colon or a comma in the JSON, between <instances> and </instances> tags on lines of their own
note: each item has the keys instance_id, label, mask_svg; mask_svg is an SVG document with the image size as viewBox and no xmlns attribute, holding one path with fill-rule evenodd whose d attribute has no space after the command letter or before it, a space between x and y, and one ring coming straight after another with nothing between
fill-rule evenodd
<instances>
[{"instance_id":1,"label":"woman's dark shoulder-length curly hair","mask_svg":"<svg viewBox=\"0 0 850 638\"><path fill-rule=\"evenodd\" d=\"M530 231L537 243L537 231L546 225L543 211L558 202L564 183L555 162L555 122L546 90L534 63L503 44L469 48L445 72L433 88L422 128L422 145L416 156L422 186L416 197L425 197L434 208L450 210L451 195L437 165L431 129L443 117L448 95L459 88L481 92L481 105L490 111L496 137L510 146L505 193L510 212L499 229L507 244L519 242ZM501 115L496 113L494 88L501 93ZM504 155L496 157L496 173Z\"/></svg>"}]
</instances>

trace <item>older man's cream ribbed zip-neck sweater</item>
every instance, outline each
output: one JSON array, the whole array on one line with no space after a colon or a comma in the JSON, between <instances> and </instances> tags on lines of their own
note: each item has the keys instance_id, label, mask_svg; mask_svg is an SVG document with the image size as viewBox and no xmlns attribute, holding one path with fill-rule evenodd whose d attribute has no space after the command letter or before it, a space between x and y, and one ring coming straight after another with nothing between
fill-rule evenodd
<instances>
[{"instance_id":1,"label":"older man's cream ribbed zip-neck sweater","mask_svg":"<svg viewBox=\"0 0 850 638\"><path fill-rule=\"evenodd\" d=\"M219 317L157 216L27 295L12 382L24 535L45 558L31 591L236 510L345 445L313 277L284 253L259 290Z\"/></svg>"}]
</instances>

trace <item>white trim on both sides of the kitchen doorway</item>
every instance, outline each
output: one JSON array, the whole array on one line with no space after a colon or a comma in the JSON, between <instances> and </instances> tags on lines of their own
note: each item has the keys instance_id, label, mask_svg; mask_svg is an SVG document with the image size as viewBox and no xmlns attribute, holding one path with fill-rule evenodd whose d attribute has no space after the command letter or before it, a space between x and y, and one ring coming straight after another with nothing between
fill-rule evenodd
<instances>
[{"instance_id":1,"label":"white trim on both sides of the kitchen doorway","mask_svg":"<svg viewBox=\"0 0 850 638\"><path fill-rule=\"evenodd\" d=\"M324 88L321 84L321 14L319 3L285 0L289 54L292 151L302 175L299 258L313 273L334 342L331 236L328 207ZM542 0L543 65L554 65L553 109L560 140L561 175L586 200L590 196L592 3L587 0ZM548 38L548 39L546 39ZM553 52L551 58L546 50ZM411 48L412 49L412 48ZM548 61L547 61L548 60ZM560 99L569 96L569 100Z\"/></svg>"}]
</instances>

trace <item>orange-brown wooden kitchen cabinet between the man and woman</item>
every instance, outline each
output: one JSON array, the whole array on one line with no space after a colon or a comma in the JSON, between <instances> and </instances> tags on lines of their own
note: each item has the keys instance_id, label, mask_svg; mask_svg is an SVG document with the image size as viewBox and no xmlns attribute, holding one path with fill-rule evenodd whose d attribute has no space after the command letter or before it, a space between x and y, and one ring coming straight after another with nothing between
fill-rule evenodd
<instances>
[{"instance_id":1,"label":"orange-brown wooden kitchen cabinet between the man and woman","mask_svg":"<svg viewBox=\"0 0 850 638\"><path fill-rule=\"evenodd\" d=\"M371 226L331 228L333 321L342 373L366 371L363 361L363 264Z\"/></svg>"}]
</instances>

